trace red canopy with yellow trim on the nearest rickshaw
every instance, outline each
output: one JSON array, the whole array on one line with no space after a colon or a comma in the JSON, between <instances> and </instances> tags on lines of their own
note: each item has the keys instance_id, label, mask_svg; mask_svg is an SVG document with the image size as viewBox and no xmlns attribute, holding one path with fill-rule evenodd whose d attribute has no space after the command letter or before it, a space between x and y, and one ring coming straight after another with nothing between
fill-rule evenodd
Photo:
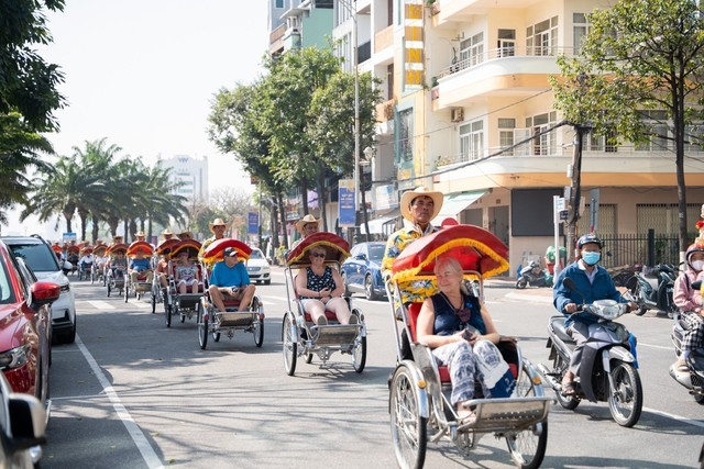
<instances>
[{"instance_id":1,"label":"red canopy with yellow trim on the nearest rickshaw","mask_svg":"<svg viewBox=\"0 0 704 469\"><path fill-rule=\"evenodd\" d=\"M393 280L435 278L436 260L449 255L460 261L463 270L473 270L490 278L508 270L508 247L493 233L475 225L442 228L409 244L394 261Z\"/></svg>"}]
</instances>

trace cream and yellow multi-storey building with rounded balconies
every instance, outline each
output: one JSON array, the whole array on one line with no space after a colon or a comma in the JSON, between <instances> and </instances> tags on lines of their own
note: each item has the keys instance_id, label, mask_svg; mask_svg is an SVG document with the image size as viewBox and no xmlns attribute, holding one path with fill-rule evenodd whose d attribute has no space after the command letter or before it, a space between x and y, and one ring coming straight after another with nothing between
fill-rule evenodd
<instances>
[{"instance_id":1,"label":"cream and yellow multi-storey building with rounded balconies","mask_svg":"<svg viewBox=\"0 0 704 469\"><path fill-rule=\"evenodd\" d=\"M274 0L275 1L275 0ZM586 13L600 0L336 0L334 36L353 64L382 82L378 137L367 193L384 236L400 219L400 192L428 186L446 196L440 222L455 217L495 233L517 266L553 241L553 196L572 181L574 130L561 123L549 85L557 57L579 51ZM653 126L656 118L653 116ZM554 127L554 129L553 129ZM656 129L660 134L667 129ZM692 130L694 131L694 130ZM532 137L532 138L530 138ZM685 157L688 216L704 202L701 147ZM579 233L590 230L590 194L598 189L597 233L678 231L673 145L610 145L586 135L586 196ZM623 263L642 260L623 255Z\"/></svg>"}]
</instances>

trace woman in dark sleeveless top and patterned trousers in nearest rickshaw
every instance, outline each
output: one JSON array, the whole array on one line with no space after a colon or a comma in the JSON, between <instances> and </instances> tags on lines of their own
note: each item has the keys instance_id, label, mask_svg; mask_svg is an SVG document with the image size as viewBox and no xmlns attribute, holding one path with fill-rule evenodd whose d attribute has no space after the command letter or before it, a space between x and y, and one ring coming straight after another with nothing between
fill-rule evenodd
<instances>
[{"instance_id":1,"label":"woman in dark sleeveless top and patterned trousers in nearest rickshaw","mask_svg":"<svg viewBox=\"0 0 704 469\"><path fill-rule=\"evenodd\" d=\"M474 398L476 379L485 399L508 398L516 381L495 345L501 336L492 316L465 290L458 259L439 257L435 273L440 292L424 301L416 338L430 347L439 365L448 366L452 381L450 401L457 405L461 427L475 420L463 403Z\"/></svg>"}]
</instances>

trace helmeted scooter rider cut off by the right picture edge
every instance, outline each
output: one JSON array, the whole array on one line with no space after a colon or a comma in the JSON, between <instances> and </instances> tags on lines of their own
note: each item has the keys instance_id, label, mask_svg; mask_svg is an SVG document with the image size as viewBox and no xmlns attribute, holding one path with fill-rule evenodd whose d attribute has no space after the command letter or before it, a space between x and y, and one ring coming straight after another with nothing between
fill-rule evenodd
<instances>
[{"instance_id":1,"label":"helmeted scooter rider cut off by the right picture edge","mask_svg":"<svg viewBox=\"0 0 704 469\"><path fill-rule=\"evenodd\" d=\"M692 282L702 280L704 270L704 243L696 242L686 249L686 268L674 280L672 300L680 309L680 316L686 322L688 327L682 340L682 353L672 364L675 372L689 373L686 358L690 353L704 346L704 308L702 306L702 293L692 288Z\"/></svg>"}]
</instances>

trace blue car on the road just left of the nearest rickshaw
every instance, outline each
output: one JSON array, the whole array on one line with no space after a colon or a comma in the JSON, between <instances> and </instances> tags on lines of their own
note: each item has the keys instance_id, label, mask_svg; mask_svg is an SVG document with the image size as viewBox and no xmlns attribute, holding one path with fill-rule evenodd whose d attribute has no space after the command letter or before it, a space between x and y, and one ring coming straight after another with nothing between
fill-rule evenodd
<instances>
[{"instance_id":1,"label":"blue car on the road just left of the nearest rickshaw","mask_svg":"<svg viewBox=\"0 0 704 469\"><path fill-rule=\"evenodd\" d=\"M382 258L386 243L360 243L350 250L351 256L342 263L344 293L362 292L367 300L386 297L382 280Z\"/></svg>"}]
</instances>

